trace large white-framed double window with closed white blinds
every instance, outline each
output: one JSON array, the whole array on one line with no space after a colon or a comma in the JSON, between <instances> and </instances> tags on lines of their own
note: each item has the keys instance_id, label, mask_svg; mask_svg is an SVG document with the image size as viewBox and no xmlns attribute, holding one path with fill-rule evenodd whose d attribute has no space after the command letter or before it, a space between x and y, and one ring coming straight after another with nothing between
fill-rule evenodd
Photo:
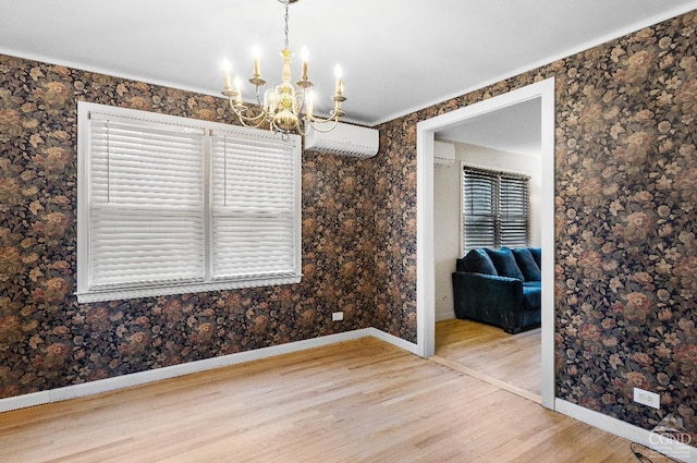
<instances>
[{"instance_id":1,"label":"large white-framed double window with closed white blinds","mask_svg":"<svg viewBox=\"0 0 697 463\"><path fill-rule=\"evenodd\" d=\"M299 136L78 105L81 303L301 279Z\"/></svg>"}]
</instances>

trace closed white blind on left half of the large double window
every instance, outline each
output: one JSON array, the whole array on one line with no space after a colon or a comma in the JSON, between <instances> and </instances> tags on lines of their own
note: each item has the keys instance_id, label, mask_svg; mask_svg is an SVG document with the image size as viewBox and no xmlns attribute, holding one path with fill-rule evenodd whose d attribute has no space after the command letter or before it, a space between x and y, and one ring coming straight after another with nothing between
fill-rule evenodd
<instances>
[{"instance_id":1,"label":"closed white blind on left half of the large double window","mask_svg":"<svg viewBox=\"0 0 697 463\"><path fill-rule=\"evenodd\" d=\"M204 133L93 113L91 288L204 279Z\"/></svg>"}]
</instances>

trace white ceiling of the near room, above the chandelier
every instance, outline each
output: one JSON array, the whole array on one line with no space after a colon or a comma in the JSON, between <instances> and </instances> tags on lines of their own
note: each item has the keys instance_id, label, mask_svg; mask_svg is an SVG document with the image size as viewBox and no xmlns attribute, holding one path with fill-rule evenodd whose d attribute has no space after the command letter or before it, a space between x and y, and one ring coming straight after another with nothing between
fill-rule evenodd
<instances>
[{"instance_id":1,"label":"white ceiling of the near room, above the chandelier","mask_svg":"<svg viewBox=\"0 0 697 463\"><path fill-rule=\"evenodd\" d=\"M299 0L290 7L290 45L309 49L325 108L340 62L346 115L376 124L696 8L695 0ZM220 95L223 58L246 80L255 44L262 76L279 83L283 14L277 0L0 0L0 52Z\"/></svg>"}]
</instances>

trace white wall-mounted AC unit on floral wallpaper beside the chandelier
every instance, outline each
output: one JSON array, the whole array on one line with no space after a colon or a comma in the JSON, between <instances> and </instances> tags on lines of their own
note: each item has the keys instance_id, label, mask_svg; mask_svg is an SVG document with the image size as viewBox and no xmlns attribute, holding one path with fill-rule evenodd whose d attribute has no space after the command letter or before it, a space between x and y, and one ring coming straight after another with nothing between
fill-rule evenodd
<instances>
[{"instance_id":1,"label":"white wall-mounted AC unit on floral wallpaper beside the chandelier","mask_svg":"<svg viewBox=\"0 0 697 463\"><path fill-rule=\"evenodd\" d=\"M321 129L321 124L318 124ZM327 124L327 127L331 123ZM305 136L305 150L371 158L378 154L379 133L376 129L339 123L333 131L320 133L310 130Z\"/></svg>"}]
</instances>

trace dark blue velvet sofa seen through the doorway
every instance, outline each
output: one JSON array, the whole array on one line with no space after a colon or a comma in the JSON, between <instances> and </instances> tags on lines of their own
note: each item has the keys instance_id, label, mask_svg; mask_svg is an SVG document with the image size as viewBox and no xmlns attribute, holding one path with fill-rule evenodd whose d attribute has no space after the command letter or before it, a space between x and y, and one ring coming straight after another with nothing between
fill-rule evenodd
<instances>
[{"instance_id":1,"label":"dark blue velvet sofa seen through the doorway","mask_svg":"<svg viewBox=\"0 0 697 463\"><path fill-rule=\"evenodd\" d=\"M539 247L469 251L453 273L455 316L510 333L539 327L541 258Z\"/></svg>"}]
</instances>

